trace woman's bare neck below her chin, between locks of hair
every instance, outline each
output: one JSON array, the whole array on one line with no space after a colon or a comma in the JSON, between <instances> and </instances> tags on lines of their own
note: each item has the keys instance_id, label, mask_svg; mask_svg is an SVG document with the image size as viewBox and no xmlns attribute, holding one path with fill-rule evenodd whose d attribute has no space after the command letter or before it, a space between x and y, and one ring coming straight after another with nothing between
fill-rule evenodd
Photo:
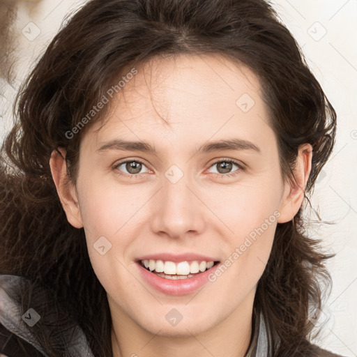
<instances>
[{"instance_id":1,"label":"woman's bare neck below her chin, between locks of hair","mask_svg":"<svg viewBox=\"0 0 357 357\"><path fill-rule=\"evenodd\" d=\"M204 333L193 335L187 330L185 337L165 335L160 331L151 333L117 305L112 321L113 357L244 357L252 337L252 304L240 306Z\"/></svg>"}]
</instances>

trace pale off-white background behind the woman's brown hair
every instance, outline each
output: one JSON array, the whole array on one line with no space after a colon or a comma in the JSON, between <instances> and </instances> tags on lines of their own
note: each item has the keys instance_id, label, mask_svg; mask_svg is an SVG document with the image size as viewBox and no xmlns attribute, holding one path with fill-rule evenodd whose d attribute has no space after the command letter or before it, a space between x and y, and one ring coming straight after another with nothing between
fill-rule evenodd
<instances>
[{"instance_id":1,"label":"pale off-white background behind the woman's brown hair","mask_svg":"<svg viewBox=\"0 0 357 357\"><path fill-rule=\"evenodd\" d=\"M271 1L294 35L312 72L337 112L337 142L319 175L312 206L333 225L312 225L310 234L337 254L328 262L333 289L316 343L346 357L357 356L357 0ZM8 132L17 86L33 66L68 10L85 3L69 0L18 2L14 31L16 79L0 97L0 139ZM312 219L317 219L311 211ZM319 325L318 324L318 325ZM318 326L317 325L317 326Z\"/></svg>"}]
</instances>

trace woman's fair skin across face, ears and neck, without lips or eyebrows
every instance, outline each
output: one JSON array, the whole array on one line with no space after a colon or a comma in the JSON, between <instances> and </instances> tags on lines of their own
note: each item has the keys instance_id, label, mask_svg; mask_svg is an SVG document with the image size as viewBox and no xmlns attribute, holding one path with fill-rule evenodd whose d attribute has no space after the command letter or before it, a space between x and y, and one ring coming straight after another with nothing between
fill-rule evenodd
<instances>
[{"instance_id":1,"label":"woman's fair skin across face, ears and neck, without lips or eyebrows","mask_svg":"<svg viewBox=\"0 0 357 357\"><path fill-rule=\"evenodd\" d=\"M60 155L50 160L68 222L84 227L91 264L107 291L114 356L244 356L257 282L276 225L294 218L303 202L312 146L298 151L296 182L284 181L259 80L222 56L155 58L137 69L105 126L95 132L96 123L85 133L77 185L64 184ZM248 112L236 105L243 93L255 100ZM146 140L158 153L96 152L116 138ZM208 140L232 138L249 140L261 152L195 154ZM144 162L139 176L123 176L130 175L126 165L113 169L124 159ZM225 159L244 169L233 164L228 174L236 176L225 176L219 165ZM165 176L172 165L183 172L177 183ZM139 274L135 259L156 252L197 252L223 262L274 212L280 213L275 222L195 293L162 294ZM105 255L93 248L100 236L112 243ZM183 317L176 326L165 319L172 308Z\"/></svg>"}]
</instances>

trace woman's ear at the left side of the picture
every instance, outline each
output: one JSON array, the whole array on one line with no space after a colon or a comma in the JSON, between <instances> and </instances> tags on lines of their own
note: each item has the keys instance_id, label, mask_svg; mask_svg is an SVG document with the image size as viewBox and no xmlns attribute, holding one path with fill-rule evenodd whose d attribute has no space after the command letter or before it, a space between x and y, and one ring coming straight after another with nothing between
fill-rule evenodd
<instances>
[{"instance_id":1,"label":"woman's ear at the left side of the picture","mask_svg":"<svg viewBox=\"0 0 357 357\"><path fill-rule=\"evenodd\" d=\"M59 200L63 210L66 212L67 220L75 228L82 228L83 221L79 210L77 192L75 186L70 182L67 173L66 151L59 148L61 155L54 150L50 158L52 179L56 185Z\"/></svg>"}]
</instances>

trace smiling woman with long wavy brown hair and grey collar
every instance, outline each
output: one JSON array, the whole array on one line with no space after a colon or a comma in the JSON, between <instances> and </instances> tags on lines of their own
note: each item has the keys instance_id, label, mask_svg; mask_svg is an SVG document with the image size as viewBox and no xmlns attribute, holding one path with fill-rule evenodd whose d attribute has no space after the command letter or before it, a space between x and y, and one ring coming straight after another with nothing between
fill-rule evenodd
<instances>
[{"instance_id":1,"label":"smiling woman with long wavy brown hair and grey collar","mask_svg":"<svg viewBox=\"0 0 357 357\"><path fill-rule=\"evenodd\" d=\"M3 354L336 356L302 218L336 114L266 1L89 1L16 117Z\"/></svg>"}]
</instances>

